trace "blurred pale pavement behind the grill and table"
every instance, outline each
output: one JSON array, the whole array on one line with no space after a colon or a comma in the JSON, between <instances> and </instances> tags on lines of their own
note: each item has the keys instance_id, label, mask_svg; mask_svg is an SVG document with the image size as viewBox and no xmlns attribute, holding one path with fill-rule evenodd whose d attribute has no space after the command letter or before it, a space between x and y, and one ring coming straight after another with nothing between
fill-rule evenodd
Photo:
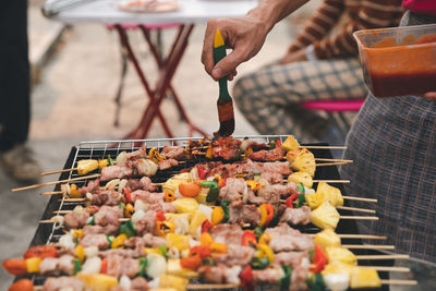
<instances>
[{"instance_id":1,"label":"blurred pale pavement behind the grill and table","mask_svg":"<svg viewBox=\"0 0 436 291\"><path fill-rule=\"evenodd\" d=\"M61 169L72 146L82 141L121 138L138 122L146 97L129 65L119 126L113 125L113 101L121 74L121 52L118 35L99 24L65 26L41 15L45 1L28 1L29 60L32 63L32 123L29 146L36 151L44 170ZM239 75L256 70L281 58L295 32L319 4L311 1L292 17L279 23L268 36L262 52L243 64ZM196 25L190 46L173 78L174 87L193 123L206 133L218 129L216 99L218 85L204 71L201 51L205 24ZM175 29L162 33L164 48L168 49ZM130 32L133 47L147 76L155 68L140 32ZM283 41L286 39L286 41ZM135 45L136 44L136 45ZM148 72L149 71L149 72ZM230 84L231 86L231 84ZM180 122L171 100L164 101L164 114L177 136L187 136L187 126ZM256 134L254 129L235 112L234 134ZM158 122L154 122L148 137L165 137ZM52 175L43 181L55 181ZM21 256L36 231L48 197L40 196L50 187L12 193L23 186L0 168L0 260ZM12 277L0 268L0 290L7 290Z\"/></svg>"}]
</instances>

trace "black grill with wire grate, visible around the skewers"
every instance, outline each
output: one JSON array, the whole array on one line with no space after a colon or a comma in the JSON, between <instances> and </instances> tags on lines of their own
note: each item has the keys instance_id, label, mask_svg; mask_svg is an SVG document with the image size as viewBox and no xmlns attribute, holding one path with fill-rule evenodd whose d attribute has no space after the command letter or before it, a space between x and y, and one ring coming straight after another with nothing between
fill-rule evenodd
<instances>
[{"instance_id":1,"label":"black grill with wire grate, visible around the skewers","mask_svg":"<svg viewBox=\"0 0 436 291\"><path fill-rule=\"evenodd\" d=\"M281 140L282 142L288 137L288 135L249 135L249 136L234 136L237 138L250 138L252 141L256 142L266 142L268 143L271 140ZM162 148L164 146L174 146L174 145L183 145L186 144L189 140L191 141L199 141L202 137L180 137L180 138L159 138L159 140L124 140L124 141L96 141L96 142L83 142L80 143L78 146L73 146L71 148L70 155L65 161L65 165L63 169L71 169L75 168L77 166L77 161L82 159L102 159L107 158L108 155L111 157L117 157L119 153L125 150L125 151L133 151L135 149L138 149L141 145L147 144L147 148ZM325 143L316 143L316 144L305 144L306 146L328 146L328 144ZM315 155L317 158L332 158L332 155L329 149L318 149L314 148L311 149L311 151ZM168 180L171 175L180 172L181 169L183 168L190 168L193 165L197 162L206 161L206 158L199 156L195 158L194 160L186 160L185 163L177 166L175 168L172 168L167 171L158 171L158 173L153 177L154 182L165 182ZM93 173L89 173L93 174ZM70 171L70 172L63 172L60 174L59 180L64 180L64 179L72 179L80 177L76 171ZM339 172L337 167L319 167L316 170L315 178L314 179L325 179L325 180L339 180ZM75 182L77 186L82 186L86 184L88 180L82 180L78 182ZM342 184L334 184L332 185L339 187L342 193L343 192L343 185ZM60 190L60 184L56 185L55 191ZM76 205L81 203L72 203L72 202L64 202L64 198L62 198L60 195L53 195L49 199L47 207L44 211L43 218L41 219L50 219L53 217L53 211L56 210L70 210L73 209ZM346 201L347 205L347 201ZM352 215L351 211L349 210L339 210L341 215L348 216ZM316 231L319 231L318 228L314 226L306 226L306 227L300 227L300 230L305 232L305 233L313 233ZM340 220L338 228L336 230L337 233L356 233L356 225L354 220ZM46 225L46 223L40 223L36 230L36 233L31 242L31 246L37 245L37 244L50 244L50 243L57 243L59 238L63 234L62 229L58 229L58 225ZM342 239L343 243L347 244L362 244L362 241L359 239ZM373 251L373 250L353 250L353 253L356 255L373 255L373 254L380 254L379 251ZM377 262L365 262L365 260L359 260L359 265L384 265L384 266L392 266L393 260L377 260ZM388 279L388 272L379 271L380 278L382 279ZM35 275L34 276L34 281L35 284L43 284L45 277L40 275ZM372 289L374 290L374 289ZM388 286L384 286L379 290L389 290Z\"/></svg>"}]
</instances>

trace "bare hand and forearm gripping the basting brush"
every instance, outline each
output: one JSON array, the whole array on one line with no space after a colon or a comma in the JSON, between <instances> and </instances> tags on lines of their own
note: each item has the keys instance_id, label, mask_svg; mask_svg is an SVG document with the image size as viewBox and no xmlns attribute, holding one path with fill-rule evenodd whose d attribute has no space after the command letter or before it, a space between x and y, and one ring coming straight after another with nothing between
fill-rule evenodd
<instances>
[{"instance_id":1,"label":"bare hand and forearm gripping the basting brush","mask_svg":"<svg viewBox=\"0 0 436 291\"><path fill-rule=\"evenodd\" d=\"M308 0L263 0L245 16L213 19L207 23L203 44L202 62L215 80L235 74L237 66L253 58L261 50L274 25ZM232 48L226 58L214 65L214 36L221 32L226 46Z\"/></svg>"}]
</instances>

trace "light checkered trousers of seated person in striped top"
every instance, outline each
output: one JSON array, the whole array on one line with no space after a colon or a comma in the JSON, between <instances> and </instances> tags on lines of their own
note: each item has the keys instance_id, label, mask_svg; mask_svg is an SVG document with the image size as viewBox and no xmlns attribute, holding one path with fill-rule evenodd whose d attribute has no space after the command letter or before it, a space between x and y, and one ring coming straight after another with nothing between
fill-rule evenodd
<instances>
[{"instance_id":1,"label":"light checkered trousers of seated person in striped top","mask_svg":"<svg viewBox=\"0 0 436 291\"><path fill-rule=\"evenodd\" d=\"M261 134L290 134L314 142L331 124L302 101L358 99L366 96L358 58L267 65L242 76L233 87L239 110Z\"/></svg>"}]
</instances>

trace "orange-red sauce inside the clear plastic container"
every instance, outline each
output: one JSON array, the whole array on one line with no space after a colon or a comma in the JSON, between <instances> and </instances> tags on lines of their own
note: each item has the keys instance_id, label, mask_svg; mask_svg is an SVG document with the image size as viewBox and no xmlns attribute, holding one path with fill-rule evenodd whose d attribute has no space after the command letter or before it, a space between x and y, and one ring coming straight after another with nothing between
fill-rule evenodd
<instances>
[{"instance_id":1,"label":"orange-red sauce inside the clear plastic container","mask_svg":"<svg viewBox=\"0 0 436 291\"><path fill-rule=\"evenodd\" d=\"M371 48L364 48L366 78L374 96L436 92L436 34L422 36L415 41L413 36L403 40L407 45L384 38Z\"/></svg>"}]
</instances>

